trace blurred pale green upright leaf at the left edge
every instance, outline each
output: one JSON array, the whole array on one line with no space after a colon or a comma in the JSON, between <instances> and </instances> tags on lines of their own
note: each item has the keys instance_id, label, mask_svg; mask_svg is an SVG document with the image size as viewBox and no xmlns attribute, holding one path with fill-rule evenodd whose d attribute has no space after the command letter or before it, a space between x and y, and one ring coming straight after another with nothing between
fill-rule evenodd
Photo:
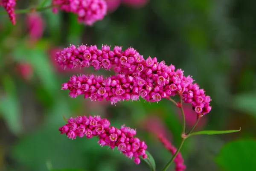
<instances>
[{"instance_id":1,"label":"blurred pale green upright leaf at the left edge","mask_svg":"<svg viewBox=\"0 0 256 171\"><path fill-rule=\"evenodd\" d=\"M2 78L3 98L0 99L0 113L12 133L18 134L21 130L20 106L15 83L9 75Z\"/></svg>"}]
</instances>

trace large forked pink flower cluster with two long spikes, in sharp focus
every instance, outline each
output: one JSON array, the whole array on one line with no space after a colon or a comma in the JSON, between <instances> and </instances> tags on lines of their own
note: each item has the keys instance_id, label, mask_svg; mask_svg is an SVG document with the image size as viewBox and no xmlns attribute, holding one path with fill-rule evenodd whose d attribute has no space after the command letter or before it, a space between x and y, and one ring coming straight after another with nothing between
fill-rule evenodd
<instances>
[{"instance_id":1,"label":"large forked pink flower cluster with two long spikes, in sharp focus","mask_svg":"<svg viewBox=\"0 0 256 171\"><path fill-rule=\"evenodd\" d=\"M139 96L146 101L160 101L169 96L183 96L186 103L191 103L198 114L206 114L211 110L209 96L198 84L193 84L191 76L184 76L183 70L175 71L174 65L166 65L164 61L157 62L157 58L148 57L146 60L135 49L122 51L121 46L74 45L57 52L56 60L64 67L90 67L95 70L104 68L113 70L116 75L108 78L94 75L73 75L63 90L70 90L70 97L84 95L93 101L106 99L115 104L121 100L138 100Z\"/></svg>"}]
</instances>

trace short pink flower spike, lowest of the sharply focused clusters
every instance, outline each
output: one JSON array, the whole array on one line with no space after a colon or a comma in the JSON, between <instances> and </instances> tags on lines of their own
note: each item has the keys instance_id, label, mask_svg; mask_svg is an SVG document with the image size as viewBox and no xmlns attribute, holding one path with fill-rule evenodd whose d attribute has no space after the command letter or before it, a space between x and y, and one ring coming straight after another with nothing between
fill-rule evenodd
<instances>
[{"instance_id":1,"label":"short pink flower spike, lowest of the sharply focused clusters","mask_svg":"<svg viewBox=\"0 0 256 171\"><path fill-rule=\"evenodd\" d=\"M110 127L110 122L107 119L101 119L100 116L78 116L68 119L68 123L58 129L61 134L66 134L70 139L76 139L76 136L99 138L99 145L109 146L111 149L117 147L122 154L140 164L140 157L147 158L145 150L147 145L144 141L134 137L136 130L123 125L121 129Z\"/></svg>"}]
</instances>

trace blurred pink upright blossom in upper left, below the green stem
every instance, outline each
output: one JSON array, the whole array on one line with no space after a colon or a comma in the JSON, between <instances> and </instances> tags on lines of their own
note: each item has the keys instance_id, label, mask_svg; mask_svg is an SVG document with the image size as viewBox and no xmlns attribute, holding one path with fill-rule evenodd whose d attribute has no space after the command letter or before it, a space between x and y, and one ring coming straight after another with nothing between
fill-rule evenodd
<instances>
[{"instance_id":1,"label":"blurred pink upright blossom in upper left, below the green stem","mask_svg":"<svg viewBox=\"0 0 256 171\"><path fill-rule=\"evenodd\" d=\"M27 14L27 27L29 30L29 38L31 41L38 41L44 32L44 20L39 13L32 12Z\"/></svg>"}]
</instances>

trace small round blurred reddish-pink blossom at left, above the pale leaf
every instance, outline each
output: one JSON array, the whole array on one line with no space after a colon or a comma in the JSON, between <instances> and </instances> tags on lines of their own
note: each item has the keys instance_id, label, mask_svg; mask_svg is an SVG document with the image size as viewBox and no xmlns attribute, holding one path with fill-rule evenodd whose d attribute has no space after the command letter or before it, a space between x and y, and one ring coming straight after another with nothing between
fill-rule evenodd
<instances>
[{"instance_id":1,"label":"small round blurred reddish-pink blossom at left, above the pale leaf","mask_svg":"<svg viewBox=\"0 0 256 171\"><path fill-rule=\"evenodd\" d=\"M27 62L17 64L17 72L20 74L20 76L24 80L30 80L32 78L33 71L34 70L31 66L31 64L29 64Z\"/></svg>"}]
</instances>

